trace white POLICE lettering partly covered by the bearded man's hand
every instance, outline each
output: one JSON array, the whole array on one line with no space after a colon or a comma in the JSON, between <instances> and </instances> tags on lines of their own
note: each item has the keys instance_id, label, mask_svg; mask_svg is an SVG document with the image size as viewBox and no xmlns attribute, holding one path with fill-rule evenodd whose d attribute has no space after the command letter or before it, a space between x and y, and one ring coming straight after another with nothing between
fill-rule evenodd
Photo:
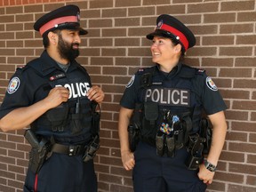
<instances>
[{"instance_id":1,"label":"white POLICE lettering partly covered by the bearded man's hand","mask_svg":"<svg viewBox=\"0 0 256 192\"><path fill-rule=\"evenodd\" d=\"M58 84L56 86L62 86ZM76 83L76 84L64 84L69 91L70 98L85 97L88 90L91 88L89 83Z\"/></svg>"}]
</instances>

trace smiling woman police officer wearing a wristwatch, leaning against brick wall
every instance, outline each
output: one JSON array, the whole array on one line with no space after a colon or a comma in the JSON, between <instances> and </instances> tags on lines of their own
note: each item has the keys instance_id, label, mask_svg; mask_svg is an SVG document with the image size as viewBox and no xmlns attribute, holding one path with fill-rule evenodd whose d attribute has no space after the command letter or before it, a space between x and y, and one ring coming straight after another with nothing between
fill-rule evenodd
<instances>
[{"instance_id":1,"label":"smiling woman police officer wearing a wristwatch, leaning against brick wall","mask_svg":"<svg viewBox=\"0 0 256 192\"><path fill-rule=\"evenodd\" d=\"M153 40L156 66L140 68L120 101L118 129L124 168L133 169L135 192L204 191L212 183L224 145L227 124L223 110L227 107L204 70L180 62L184 52L196 44L193 33L166 14L157 18L156 25L147 36ZM213 132L209 155L201 164L205 140L198 133L203 108ZM127 132L130 120L133 127L129 129L140 133L134 154ZM198 164L199 171L191 163Z\"/></svg>"}]
</instances>

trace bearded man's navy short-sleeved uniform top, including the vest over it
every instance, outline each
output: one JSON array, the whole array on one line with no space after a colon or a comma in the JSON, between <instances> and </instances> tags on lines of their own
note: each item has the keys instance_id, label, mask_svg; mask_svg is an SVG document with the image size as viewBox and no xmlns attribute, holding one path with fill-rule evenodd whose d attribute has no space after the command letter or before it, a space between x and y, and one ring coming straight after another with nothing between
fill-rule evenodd
<instances>
[{"instance_id":1,"label":"bearded man's navy short-sleeved uniform top, including the vest over it","mask_svg":"<svg viewBox=\"0 0 256 192\"><path fill-rule=\"evenodd\" d=\"M39 100L43 100L55 86L64 86L69 90L68 102L48 110L36 119L32 128L35 127L37 134L52 135L52 124L47 113L56 110L52 116L50 115L50 118L63 120L61 119L63 118L61 113L67 112L67 114L63 114L67 121L62 124L68 129L75 127L75 130L57 130L53 134L61 137L81 137L83 135L79 140L89 140L91 137L92 114L91 101L88 100L86 93L92 86L90 76L76 60L70 62L67 72L63 71L46 51L42 53L40 58L28 62L25 67L17 68L10 80L0 108L0 118L6 116L15 108L28 107ZM80 103L79 115L75 114L77 100ZM78 124L74 119L82 120Z\"/></svg>"}]
</instances>

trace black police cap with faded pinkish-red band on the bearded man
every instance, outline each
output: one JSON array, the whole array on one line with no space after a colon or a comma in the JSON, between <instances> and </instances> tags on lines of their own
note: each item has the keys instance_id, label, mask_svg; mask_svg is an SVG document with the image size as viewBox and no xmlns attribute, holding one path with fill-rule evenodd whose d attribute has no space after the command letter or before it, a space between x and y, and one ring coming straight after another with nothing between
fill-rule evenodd
<instances>
[{"instance_id":1,"label":"black police cap with faded pinkish-red band on the bearded man","mask_svg":"<svg viewBox=\"0 0 256 192\"><path fill-rule=\"evenodd\" d=\"M44 14L44 16L36 20L34 28L40 32L41 36L55 29L75 29L79 30L80 35L88 33L84 28L80 27L80 9L74 4L62 6Z\"/></svg>"}]
</instances>

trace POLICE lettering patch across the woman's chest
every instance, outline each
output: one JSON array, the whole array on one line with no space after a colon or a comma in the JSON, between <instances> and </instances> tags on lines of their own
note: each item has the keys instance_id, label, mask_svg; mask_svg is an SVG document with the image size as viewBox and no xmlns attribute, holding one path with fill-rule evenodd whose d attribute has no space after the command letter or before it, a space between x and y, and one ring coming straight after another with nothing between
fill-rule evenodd
<instances>
[{"instance_id":1,"label":"POLICE lettering patch across the woman's chest","mask_svg":"<svg viewBox=\"0 0 256 192\"><path fill-rule=\"evenodd\" d=\"M157 102L160 105L190 106L190 92L182 89L148 89L145 101Z\"/></svg>"}]
</instances>

